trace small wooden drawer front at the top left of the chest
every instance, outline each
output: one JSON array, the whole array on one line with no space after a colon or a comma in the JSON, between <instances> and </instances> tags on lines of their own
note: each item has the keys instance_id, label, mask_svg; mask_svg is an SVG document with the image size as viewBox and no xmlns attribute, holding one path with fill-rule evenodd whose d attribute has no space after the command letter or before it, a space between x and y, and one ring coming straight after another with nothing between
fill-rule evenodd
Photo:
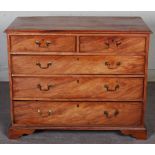
<instances>
[{"instance_id":1,"label":"small wooden drawer front at the top left of the chest","mask_svg":"<svg viewBox=\"0 0 155 155\"><path fill-rule=\"evenodd\" d=\"M11 36L12 52L75 52L72 36Z\"/></svg>"}]
</instances>

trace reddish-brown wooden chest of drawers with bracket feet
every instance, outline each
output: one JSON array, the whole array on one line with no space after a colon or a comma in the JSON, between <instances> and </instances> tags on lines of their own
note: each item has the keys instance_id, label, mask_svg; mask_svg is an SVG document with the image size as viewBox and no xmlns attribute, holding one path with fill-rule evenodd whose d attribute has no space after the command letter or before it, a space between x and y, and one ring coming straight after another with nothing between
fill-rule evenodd
<instances>
[{"instance_id":1,"label":"reddish-brown wooden chest of drawers with bracket feet","mask_svg":"<svg viewBox=\"0 0 155 155\"><path fill-rule=\"evenodd\" d=\"M37 129L146 139L150 30L139 17L19 17L6 29L9 138Z\"/></svg>"}]
</instances>

